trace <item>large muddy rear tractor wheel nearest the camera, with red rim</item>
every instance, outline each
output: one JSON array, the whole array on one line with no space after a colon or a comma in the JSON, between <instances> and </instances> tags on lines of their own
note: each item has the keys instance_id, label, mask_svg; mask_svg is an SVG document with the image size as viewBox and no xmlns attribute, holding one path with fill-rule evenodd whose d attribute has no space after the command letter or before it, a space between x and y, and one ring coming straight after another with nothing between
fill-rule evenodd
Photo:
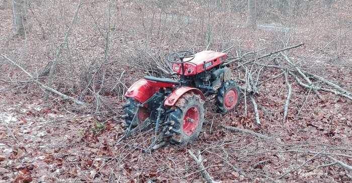
<instances>
[{"instance_id":1,"label":"large muddy rear tractor wheel nearest the camera, with red rim","mask_svg":"<svg viewBox=\"0 0 352 183\"><path fill-rule=\"evenodd\" d=\"M204 101L193 92L184 94L166 121L165 136L172 144L185 145L198 138L204 122Z\"/></svg>"}]
</instances>

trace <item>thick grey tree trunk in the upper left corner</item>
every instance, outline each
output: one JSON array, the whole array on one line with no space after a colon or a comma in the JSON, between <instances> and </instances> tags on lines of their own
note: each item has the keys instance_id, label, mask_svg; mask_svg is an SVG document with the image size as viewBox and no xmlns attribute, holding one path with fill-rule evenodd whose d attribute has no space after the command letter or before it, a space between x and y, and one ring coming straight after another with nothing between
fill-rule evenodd
<instances>
[{"instance_id":1,"label":"thick grey tree trunk in the upper left corner","mask_svg":"<svg viewBox=\"0 0 352 183\"><path fill-rule=\"evenodd\" d=\"M16 36L25 35L25 25L26 25L26 5L25 0L13 0L12 10L14 13L14 22L16 28Z\"/></svg>"}]
</instances>

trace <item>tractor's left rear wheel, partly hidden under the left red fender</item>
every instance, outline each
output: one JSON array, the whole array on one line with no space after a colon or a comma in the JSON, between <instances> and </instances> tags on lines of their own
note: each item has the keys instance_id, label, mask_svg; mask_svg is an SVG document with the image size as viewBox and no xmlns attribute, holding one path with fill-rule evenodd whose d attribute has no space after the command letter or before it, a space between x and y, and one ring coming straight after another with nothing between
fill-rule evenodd
<instances>
[{"instance_id":1,"label":"tractor's left rear wheel, partly hidden under the left red fender","mask_svg":"<svg viewBox=\"0 0 352 183\"><path fill-rule=\"evenodd\" d=\"M133 98L127 98L126 104L123 105L123 109L125 111L125 115L123 117L125 118L125 126L127 128L132 123L133 117L138 108L138 104L140 103L135 101ZM138 110L138 113L139 114L136 116L136 119L132 124L132 128L136 127L138 124L144 123L150 115L150 112L145 107L140 107L140 109Z\"/></svg>"}]
</instances>

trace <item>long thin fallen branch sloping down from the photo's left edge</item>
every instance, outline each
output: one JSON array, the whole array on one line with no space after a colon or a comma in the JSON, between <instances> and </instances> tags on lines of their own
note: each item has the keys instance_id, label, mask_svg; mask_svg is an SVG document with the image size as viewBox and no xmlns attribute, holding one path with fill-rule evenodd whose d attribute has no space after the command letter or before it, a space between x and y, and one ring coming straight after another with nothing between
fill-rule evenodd
<instances>
[{"instance_id":1,"label":"long thin fallen branch sloping down from the photo's left edge","mask_svg":"<svg viewBox=\"0 0 352 183\"><path fill-rule=\"evenodd\" d=\"M57 95L59 95L60 97L62 97L63 99L65 100L71 100L72 102L74 102L75 104L78 104L78 105L83 105L83 106L88 106L87 103L84 103L84 102L81 102L73 97L70 97L70 96L67 96L53 88L50 88L46 85L44 85L43 83L39 82L38 80L34 79L34 77L32 76L32 74L30 74L29 72L27 72L25 69L23 69L20 65L18 65L16 62L12 61L11 59L9 59L8 57L6 57L5 55L3 54L0 54L2 55L5 59L7 59L9 62L11 62L12 64L14 64L15 66L17 66L18 68L20 68L24 73L26 73L29 77L31 77L31 79L34 80L34 82L36 82L41 88L45 89L45 90L48 90L52 93L55 93Z\"/></svg>"}]
</instances>

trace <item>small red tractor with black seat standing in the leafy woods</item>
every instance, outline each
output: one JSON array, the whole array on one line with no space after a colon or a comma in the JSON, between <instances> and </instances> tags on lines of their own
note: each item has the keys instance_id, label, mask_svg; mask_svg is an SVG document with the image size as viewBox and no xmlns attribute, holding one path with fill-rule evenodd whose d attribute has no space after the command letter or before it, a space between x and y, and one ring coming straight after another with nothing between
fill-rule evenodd
<instances>
[{"instance_id":1,"label":"small red tractor with black seat standing in the leafy woods","mask_svg":"<svg viewBox=\"0 0 352 183\"><path fill-rule=\"evenodd\" d=\"M240 90L231 80L230 68L223 66L225 60L225 53L215 51L170 54L167 61L178 80L145 76L135 82L125 94L127 130L155 124L155 133L171 143L195 140L204 122L207 96L216 95L221 114L235 110L239 103Z\"/></svg>"}]
</instances>

